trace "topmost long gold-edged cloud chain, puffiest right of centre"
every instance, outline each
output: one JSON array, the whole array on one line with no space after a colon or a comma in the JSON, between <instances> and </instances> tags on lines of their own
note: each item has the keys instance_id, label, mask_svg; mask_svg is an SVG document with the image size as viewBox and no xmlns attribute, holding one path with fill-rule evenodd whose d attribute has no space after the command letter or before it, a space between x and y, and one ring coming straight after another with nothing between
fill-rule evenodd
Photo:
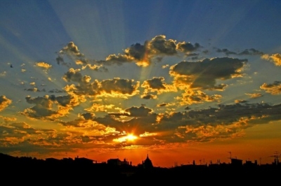
<instances>
[{"instance_id":1,"label":"topmost long gold-edged cloud chain, puffiest right of centre","mask_svg":"<svg viewBox=\"0 0 281 186\"><path fill-rule=\"evenodd\" d=\"M176 43L175 40L166 39L164 35L158 35L150 41L145 41L143 44L135 43L125 48L123 53L108 55L104 60L86 59L86 57L79 51L74 42L68 43L64 48L58 52L56 61L58 64L71 66L70 62L65 62L65 56L72 59L77 65L82 65L82 69L93 69L101 71L108 71L104 65L122 65L124 63L136 63L138 66L149 66L152 60L159 62L162 57L178 55L183 53L187 56L197 56L198 54L191 53L202 48L199 43L187 43L185 41Z\"/></svg>"}]
</instances>

